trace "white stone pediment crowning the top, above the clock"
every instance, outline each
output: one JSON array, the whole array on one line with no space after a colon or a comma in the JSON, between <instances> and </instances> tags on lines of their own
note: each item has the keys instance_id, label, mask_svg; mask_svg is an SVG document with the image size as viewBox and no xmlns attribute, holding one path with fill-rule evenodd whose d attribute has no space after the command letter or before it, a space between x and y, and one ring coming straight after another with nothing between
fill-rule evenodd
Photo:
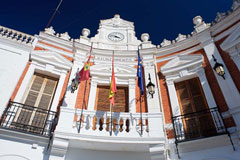
<instances>
[{"instance_id":1,"label":"white stone pediment crowning the top, above the clock","mask_svg":"<svg viewBox=\"0 0 240 160\"><path fill-rule=\"evenodd\" d=\"M129 22L120 18L120 15L116 14L113 18L100 21L100 26L110 27L131 27L134 28L133 22Z\"/></svg>"}]
</instances>

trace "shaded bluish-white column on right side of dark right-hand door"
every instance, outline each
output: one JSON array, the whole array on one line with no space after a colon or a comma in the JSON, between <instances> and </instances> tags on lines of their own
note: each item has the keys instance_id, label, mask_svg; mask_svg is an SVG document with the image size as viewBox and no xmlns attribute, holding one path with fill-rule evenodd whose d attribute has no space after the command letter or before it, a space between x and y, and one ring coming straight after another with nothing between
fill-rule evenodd
<instances>
[{"instance_id":1,"label":"shaded bluish-white column on right side of dark right-hand door","mask_svg":"<svg viewBox=\"0 0 240 160\"><path fill-rule=\"evenodd\" d=\"M199 77L199 80L201 82L205 97L207 99L207 103L208 103L209 108L217 107L215 99L212 95L212 91L211 91L210 86L208 84L204 69L200 68L197 73L198 73L198 77Z\"/></svg>"}]
</instances>

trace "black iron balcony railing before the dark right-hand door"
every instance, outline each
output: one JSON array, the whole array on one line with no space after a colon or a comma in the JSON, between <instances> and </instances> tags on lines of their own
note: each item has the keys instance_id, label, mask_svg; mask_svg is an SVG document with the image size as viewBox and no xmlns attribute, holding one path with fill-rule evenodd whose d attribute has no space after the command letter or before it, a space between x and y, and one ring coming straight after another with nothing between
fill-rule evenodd
<instances>
[{"instance_id":1,"label":"black iron balcony railing before the dark right-hand door","mask_svg":"<svg viewBox=\"0 0 240 160\"><path fill-rule=\"evenodd\" d=\"M226 133L217 107L175 116L172 120L177 143Z\"/></svg>"}]
</instances>

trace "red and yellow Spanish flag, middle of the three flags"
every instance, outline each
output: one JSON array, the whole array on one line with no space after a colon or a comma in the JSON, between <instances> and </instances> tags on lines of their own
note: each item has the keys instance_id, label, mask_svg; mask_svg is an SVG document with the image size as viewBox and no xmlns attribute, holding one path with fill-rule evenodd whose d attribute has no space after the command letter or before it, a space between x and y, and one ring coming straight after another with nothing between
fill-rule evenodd
<instances>
[{"instance_id":1,"label":"red and yellow Spanish flag, middle of the three flags","mask_svg":"<svg viewBox=\"0 0 240 160\"><path fill-rule=\"evenodd\" d=\"M114 96L117 93L116 81L115 81L115 74L114 74L114 54L112 57L112 79L110 84L109 90L109 100L112 105L114 105Z\"/></svg>"}]
</instances>

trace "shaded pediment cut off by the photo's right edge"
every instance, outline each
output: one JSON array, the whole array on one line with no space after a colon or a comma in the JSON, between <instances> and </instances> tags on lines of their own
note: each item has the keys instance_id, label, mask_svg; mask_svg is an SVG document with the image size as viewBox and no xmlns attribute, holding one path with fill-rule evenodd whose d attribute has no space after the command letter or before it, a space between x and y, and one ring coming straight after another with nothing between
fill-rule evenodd
<instances>
[{"instance_id":1,"label":"shaded pediment cut off by the photo's right edge","mask_svg":"<svg viewBox=\"0 0 240 160\"><path fill-rule=\"evenodd\" d=\"M229 36L228 38L221 44L221 48L224 51L228 51L229 49L235 47L236 45L240 45L240 26L238 26Z\"/></svg>"}]
</instances>

